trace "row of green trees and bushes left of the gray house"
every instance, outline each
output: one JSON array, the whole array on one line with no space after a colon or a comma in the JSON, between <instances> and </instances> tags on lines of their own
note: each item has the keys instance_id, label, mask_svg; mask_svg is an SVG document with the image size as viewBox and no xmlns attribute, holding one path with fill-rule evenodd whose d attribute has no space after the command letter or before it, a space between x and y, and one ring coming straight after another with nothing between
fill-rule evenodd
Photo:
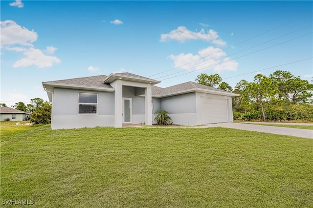
<instances>
[{"instance_id":1,"label":"row of green trees and bushes left of the gray house","mask_svg":"<svg viewBox=\"0 0 313 208\"><path fill-rule=\"evenodd\" d=\"M1 107L7 107L6 104L0 104ZM41 98L30 99L30 104L18 102L11 106L12 108L30 113L30 122L33 124L50 124L51 122L51 104Z\"/></svg>"}]
</instances>

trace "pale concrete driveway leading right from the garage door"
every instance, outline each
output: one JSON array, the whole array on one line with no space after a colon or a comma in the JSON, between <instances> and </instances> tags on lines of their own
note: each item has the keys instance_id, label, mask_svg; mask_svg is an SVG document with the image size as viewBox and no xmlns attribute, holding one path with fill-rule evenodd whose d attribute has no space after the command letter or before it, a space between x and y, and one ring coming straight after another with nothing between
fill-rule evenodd
<instances>
[{"instance_id":1,"label":"pale concrete driveway leading right from the garage door","mask_svg":"<svg viewBox=\"0 0 313 208\"><path fill-rule=\"evenodd\" d=\"M205 126L235 128L235 129L248 130L248 131L258 131L258 132L281 134L281 135L313 139L313 130L310 130L310 129L287 128L287 127L242 124L242 123L206 124Z\"/></svg>"}]
</instances>

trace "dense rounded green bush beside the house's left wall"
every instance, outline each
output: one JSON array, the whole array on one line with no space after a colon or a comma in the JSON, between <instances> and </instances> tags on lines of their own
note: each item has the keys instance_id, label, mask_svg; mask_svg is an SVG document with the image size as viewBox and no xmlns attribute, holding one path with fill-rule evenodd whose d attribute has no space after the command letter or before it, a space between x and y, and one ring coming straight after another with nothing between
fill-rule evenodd
<instances>
[{"instance_id":1,"label":"dense rounded green bush beside the house's left wall","mask_svg":"<svg viewBox=\"0 0 313 208\"><path fill-rule=\"evenodd\" d=\"M30 122L34 124L50 124L51 104L43 102L41 106L34 108L34 111L30 114Z\"/></svg>"}]
</instances>

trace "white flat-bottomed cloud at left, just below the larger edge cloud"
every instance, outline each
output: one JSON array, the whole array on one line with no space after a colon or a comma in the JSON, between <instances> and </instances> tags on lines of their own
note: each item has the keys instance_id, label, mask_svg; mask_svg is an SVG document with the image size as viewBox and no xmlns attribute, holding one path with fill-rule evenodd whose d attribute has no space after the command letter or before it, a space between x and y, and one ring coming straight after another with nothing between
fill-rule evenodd
<instances>
[{"instance_id":1,"label":"white flat-bottomed cloud at left, just below the larger edge cloud","mask_svg":"<svg viewBox=\"0 0 313 208\"><path fill-rule=\"evenodd\" d=\"M31 65L36 65L39 68L49 67L52 66L54 63L61 62L55 56L47 56L41 51L40 49L36 48L29 48L27 51L24 52L26 58L23 58L13 64L14 68L18 67L26 67Z\"/></svg>"}]
</instances>

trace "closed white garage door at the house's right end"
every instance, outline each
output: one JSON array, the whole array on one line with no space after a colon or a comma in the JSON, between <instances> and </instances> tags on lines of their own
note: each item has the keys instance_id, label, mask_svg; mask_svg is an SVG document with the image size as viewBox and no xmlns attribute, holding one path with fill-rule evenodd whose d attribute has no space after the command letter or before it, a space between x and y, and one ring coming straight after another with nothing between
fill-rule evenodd
<instances>
[{"instance_id":1,"label":"closed white garage door at the house's right end","mask_svg":"<svg viewBox=\"0 0 313 208\"><path fill-rule=\"evenodd\" d=\"M228 122L227 100L201 97L201 124Z\"/></svg>"}]
</instances>

